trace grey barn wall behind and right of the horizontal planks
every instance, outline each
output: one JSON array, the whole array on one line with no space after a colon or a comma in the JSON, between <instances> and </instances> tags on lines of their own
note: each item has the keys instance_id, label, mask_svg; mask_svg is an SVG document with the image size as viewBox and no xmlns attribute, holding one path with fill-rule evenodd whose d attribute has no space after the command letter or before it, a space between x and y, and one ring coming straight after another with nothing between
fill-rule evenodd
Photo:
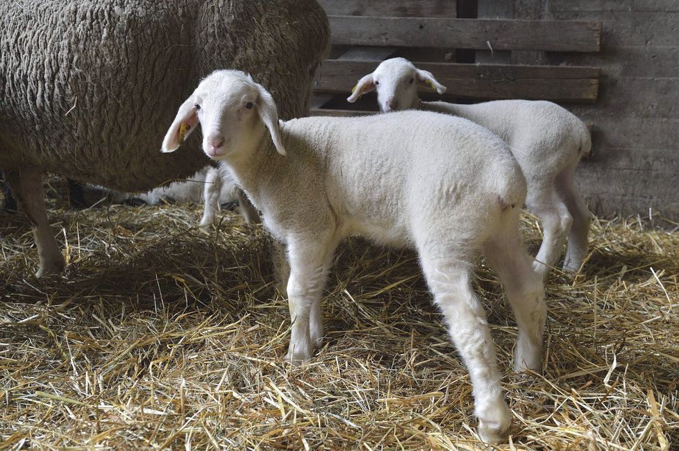
<instances>
[{"instance_id":1,"label":"grey barn wall behind and right of the horizontal planks","mask_svg":"<svg viewBox=\"0 0 679 451\"><path fill-rule=\"evenodd\" d=\"M477 52L480 62L601 67L594 105L565 105L594 123L578 186L596 214L679 220L679 2L478 0L479 17L601 21L600 53Z\"/></svg>"}]
</instances>

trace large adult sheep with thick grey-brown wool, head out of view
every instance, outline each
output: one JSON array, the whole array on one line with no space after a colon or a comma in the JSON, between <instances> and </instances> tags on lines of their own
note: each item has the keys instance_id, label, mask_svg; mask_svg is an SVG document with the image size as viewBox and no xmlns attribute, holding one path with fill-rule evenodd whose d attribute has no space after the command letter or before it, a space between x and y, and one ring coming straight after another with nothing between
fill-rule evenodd
<instances>
[{"instance_id":1,"label":"large adult sheep with thick grey-brown wool, head out of view","mask_svg":"<svg viewBox=\"0 0 679 451\"><path fill-rule=\"evenodd\" d=\"M124 192L186 178L207 163L199 139L176 155L158 142L201 76L248 71L298 117L329 39L314 0L6 1L0 17L0 169L31 221L38 277L65 266L42 171Z\"/></svg>"}]
</instances>

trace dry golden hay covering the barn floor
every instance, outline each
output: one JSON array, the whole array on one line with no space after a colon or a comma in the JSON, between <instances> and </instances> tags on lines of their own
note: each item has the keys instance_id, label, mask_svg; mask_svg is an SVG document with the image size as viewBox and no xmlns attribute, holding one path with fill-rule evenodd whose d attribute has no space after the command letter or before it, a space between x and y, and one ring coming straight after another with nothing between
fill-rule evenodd
<instances>
[{"instance_id":1,"label":"dry golden hay covering the barn floor","mask_svg":"<svg viewBox=\"0 0 679 451\"><path fill-rule=\"evenodd\" d=\"M298 368L281 360L290 321L260 228L226 213L201 232L196 206L64 204L50 203L66 278L36 280L30 230L0 217L0 448L481 446L467 373L411 253L342 248L327 339ZM535 221L524 225L535 249ZM676 229L596 221L584 275L548 284L544 375L519 377L514 320L481 262L515 415L500 448L679 443L678 273Z\"/></svg>"}]
</instances>

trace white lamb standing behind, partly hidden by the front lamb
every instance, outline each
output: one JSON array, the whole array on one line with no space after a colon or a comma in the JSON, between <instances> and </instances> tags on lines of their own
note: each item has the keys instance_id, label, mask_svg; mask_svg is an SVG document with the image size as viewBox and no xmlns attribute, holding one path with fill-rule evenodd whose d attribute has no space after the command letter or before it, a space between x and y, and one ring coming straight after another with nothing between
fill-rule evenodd
<instances>
[{"instance_id":1,"label":"white lamb standing behind, partly hidden by the front lamb","mask_svg":"<svg viewBox=\"0 0 679 451\"><path fill-rule=\"evenodd\" d=\"M573 184L573 173L592 146L587 126L571 112L547 101L503 100L476 105L423 102L417 96L418 85L429 85L439 94L446 91L430 72L417 69L404 58L392 58L361 78L346 100L354 102L361 94L377 90L382 112L444 112L469 119L498 135L521 166L528 188L526 206L544 228L535 269L546 278L568 236L563 269L578 271L587 257L590 214Z\"/></svg>"}]
</instances>

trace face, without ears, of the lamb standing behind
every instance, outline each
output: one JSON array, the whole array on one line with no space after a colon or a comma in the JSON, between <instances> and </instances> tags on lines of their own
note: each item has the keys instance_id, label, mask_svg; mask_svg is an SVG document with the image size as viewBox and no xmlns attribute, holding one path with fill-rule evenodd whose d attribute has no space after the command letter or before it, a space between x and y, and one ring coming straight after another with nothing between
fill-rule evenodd
<instances>
[{"instance_id":1,"label":"face, without ears, of the lamb standing behind","mask_svg":"<svg viewBox=\"0 0 679 451\"><path fill-rule=\"evenodd\" d=\"M410 110L417 105L417 69L408 60L383 61L373 72L381 112Z\"/></svg>"}]
</instances>

